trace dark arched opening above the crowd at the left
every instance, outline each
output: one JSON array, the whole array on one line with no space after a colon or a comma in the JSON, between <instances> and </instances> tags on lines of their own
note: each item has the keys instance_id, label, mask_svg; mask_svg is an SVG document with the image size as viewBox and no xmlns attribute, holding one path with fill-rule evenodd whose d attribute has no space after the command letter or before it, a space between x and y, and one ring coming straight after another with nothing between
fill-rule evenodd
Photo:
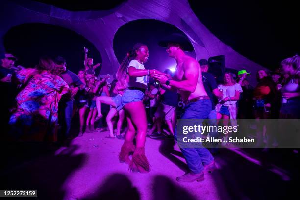
<instances>
[{"instance_id":1,"label":"dark arched opening above the crowd at the left","mask_svg":"<svg viewBox=\"0 0 300 200\"><path fill-rule=\"evenodd\" d=\"M77 73L83 68L83 47L89 49L89 57L101 62L97 48L83 36L61 26L28 23L12 27L3 37L5 50L16 55L17 64L34 67L41 56L62 56L68 68Z\"/></svg>"}]
</instances>

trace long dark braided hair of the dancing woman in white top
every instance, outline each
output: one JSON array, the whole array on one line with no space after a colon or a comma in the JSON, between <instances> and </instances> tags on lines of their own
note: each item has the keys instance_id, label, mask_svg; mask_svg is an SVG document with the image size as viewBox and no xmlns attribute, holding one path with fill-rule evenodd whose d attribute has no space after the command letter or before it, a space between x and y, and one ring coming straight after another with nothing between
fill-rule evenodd
<instances>
[{"instance_id":1,"label":"long dark braided hair of the dancing woman in white top","mask_svg":"<svg viewBox=\"0 0 300 200\"><path fill-rule=\"evenodd\" d=\"M137 54L136 54L136 50L139 50L142 46L146 46L142 43L137 43L133 46L132 50L130 50L127 55L125 56L125 58L123 58L123 61L117 71L117 79L118 81L123 85L123 86L127 86L127 81L126 81L126 77L127 77L127 68L128 65L130 63L131 60L135 59Z\"/></svg>"}]
</instances>

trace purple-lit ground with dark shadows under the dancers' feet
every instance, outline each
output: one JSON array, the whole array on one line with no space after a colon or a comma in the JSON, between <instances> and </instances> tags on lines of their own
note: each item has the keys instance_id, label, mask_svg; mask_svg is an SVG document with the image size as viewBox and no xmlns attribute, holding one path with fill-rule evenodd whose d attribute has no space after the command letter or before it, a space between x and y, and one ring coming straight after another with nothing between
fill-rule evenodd
<instances>
[{"instance_id":1,"label":"purple-lit ground with dark shadows under the dancers' feet","mask_svg":"<svg viewBox=\"0 0 300 200\"><path fill-rule=\"evenodd\" d=\"M204 181L178 183L188 169L174 142L147 138L151 171L141 174L119 163L124 140L106 135L85 133L63 147L2 144L0 188L37 189L34 200L282 199L298 191L299 156L287 150L221 149Z\"/></svg>"}]
</instances>

